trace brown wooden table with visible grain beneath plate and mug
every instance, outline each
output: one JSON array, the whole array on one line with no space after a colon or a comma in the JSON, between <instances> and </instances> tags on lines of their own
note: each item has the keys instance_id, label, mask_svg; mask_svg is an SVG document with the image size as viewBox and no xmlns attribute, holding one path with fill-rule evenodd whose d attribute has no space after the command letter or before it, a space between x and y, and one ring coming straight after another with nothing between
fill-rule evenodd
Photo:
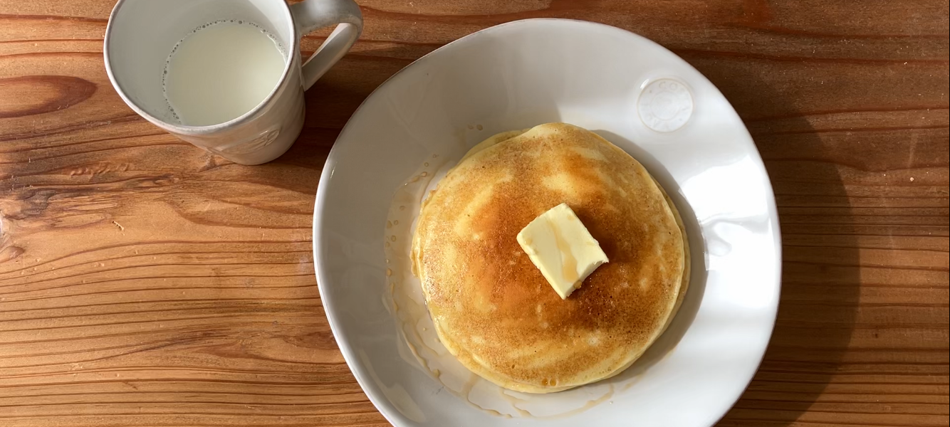
<instances>
[{"instance_id":1,"label":"brown wooden table with visible grain beneath plate and mug","mask_svg":"<svg viewBox=\"0 0 950 427\"><path fill-rule=\"evenodd\" d=\"M294 148L246 167L123 104L112 0L0 0L0 425L387 425L320 305L320 170L393 73L531 17L673 49L765 158L782 303L720 425L948 425L946 1L361 3L362 39L307 93Z\"/></svg>"}]
</instances>

